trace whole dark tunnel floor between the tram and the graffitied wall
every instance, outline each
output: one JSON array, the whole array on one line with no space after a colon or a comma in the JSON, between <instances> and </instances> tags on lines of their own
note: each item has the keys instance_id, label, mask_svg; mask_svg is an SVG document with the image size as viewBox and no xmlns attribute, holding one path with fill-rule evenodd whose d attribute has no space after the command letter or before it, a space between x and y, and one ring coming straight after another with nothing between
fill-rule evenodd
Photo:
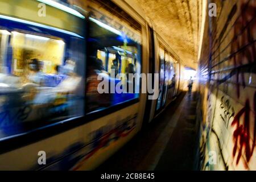
<instances>
[{"instance_id":1,"label":"whole dark tunnel floor between the tram and the graffitied wall","mask_svg":"<svg viewBox=\"0 0 256 182\"><path fill-rule=\"evenodd\" d=\"M96 171L195 170L197 93L181 93Z\"/></svg>"}]
</instances>

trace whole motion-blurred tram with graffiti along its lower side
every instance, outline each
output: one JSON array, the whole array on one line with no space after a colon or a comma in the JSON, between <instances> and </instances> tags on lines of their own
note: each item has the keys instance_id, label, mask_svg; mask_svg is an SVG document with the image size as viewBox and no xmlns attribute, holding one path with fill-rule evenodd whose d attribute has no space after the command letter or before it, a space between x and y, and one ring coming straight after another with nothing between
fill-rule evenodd
<instances>
[{"instance_id":1,"label":"whole motion-blurred tram with graffiti along its lower side","mask_svg":"<svg viewBox=\"0 0 256 182\"><path fill-rule=\"evenodd\" d=\"M1 170L94 169L184 88L179 56L132 1L0 0L0 7ZM111 69L159 73L158 99L97 93L98 75L121 81Z\"/></svg>"}]
</instances>

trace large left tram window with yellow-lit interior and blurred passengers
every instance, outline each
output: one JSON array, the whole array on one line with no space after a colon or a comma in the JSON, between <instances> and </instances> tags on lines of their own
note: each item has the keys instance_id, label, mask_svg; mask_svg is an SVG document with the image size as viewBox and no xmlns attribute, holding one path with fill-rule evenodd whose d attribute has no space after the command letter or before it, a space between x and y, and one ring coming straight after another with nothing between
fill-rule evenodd
<instances>
[{"instance_id":1,"label":"large left tram window with yellow-lit interior and blurred passengers","mask_svg":"<svg viewBox=\"0 0 256 182\"><path fill-rule=\"evenodd\" d=\"M84 39L0 29L0 137L83 115Z\"/></svg>"}]
</instances>

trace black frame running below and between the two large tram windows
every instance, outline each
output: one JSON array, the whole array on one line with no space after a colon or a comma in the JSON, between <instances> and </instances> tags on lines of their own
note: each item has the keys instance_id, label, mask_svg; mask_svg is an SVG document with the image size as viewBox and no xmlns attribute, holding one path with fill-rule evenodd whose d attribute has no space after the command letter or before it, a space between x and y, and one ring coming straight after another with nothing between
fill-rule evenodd
<instances>
[{"instance_id":1,"label":"black frame running below and between the two large tram windows","mask_svg":"<svg viewBox=\"0 0 256 182\"><path fill-rule=\"evenodd\" d=\"M88 21L89 17L86 16L84 22L84 28L85 28L85 85L84 89L86 90L86 71L87 71L87 58L88 58ZM141 72L142 72L142 44L139 44L141 47L139 59L141 60ZM140 90L141 90L141 84ZM139 94L139 97L133 98L131 100L127 100L124 102L121 102L119 104L115 104L113 106L110 106L106 109L102 110L96 110L91 113L86 113L86 110L84 108L84 115L83 116L77 116L73 118L64 119L63 121L53 122L49 125L45 125L42 127L38 127L29 131L24 131L19 134L10 135L8 137L0 138L0 155L5 154L6 152L10 152L12 150L18 149L20 147L26 147L29 144L39 142L40 140L47 139L49 137L53 137L57 134L64 133L65 131L74 129L76 127L85 125L86 123L92 122L96 119L103 118L106 115L113 114L119 110L125 109L126 107L129 107L131 105L137 104L141 100L141 94ZM86 105L86 92L84 95L84 106Z\"/></svg>"}]
</instances>

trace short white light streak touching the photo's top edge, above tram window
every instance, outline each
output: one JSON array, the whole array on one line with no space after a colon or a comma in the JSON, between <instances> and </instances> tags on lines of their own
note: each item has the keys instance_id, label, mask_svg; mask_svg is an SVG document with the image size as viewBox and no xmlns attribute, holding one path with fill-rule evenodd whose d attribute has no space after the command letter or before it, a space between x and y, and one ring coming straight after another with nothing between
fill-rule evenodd
<instances>
[{"instance_id":1,"label":"short white light streak touching the photo's top edge, above tram window","mask_svg":"<svg viewBox=\"0 0 256 182\"><path fill-rule=\"evenodd\" d=\"M68 6L65 6L65 5L62 5L58 2L55 2L55 1L52 1L52 0L37 0L39 2L42 2L42 3L45 3L49 6L53 6L53 7L56 7L57 9L60 9L60 10L63 10L67 13L70 13L72 15L75 15L79 18L82 18L82 19L85 19L85 16L82 15L81 13L79 13L78 11L76 10L73 10L72 8L68 7Z\"/></svg>"}]
</instances>

